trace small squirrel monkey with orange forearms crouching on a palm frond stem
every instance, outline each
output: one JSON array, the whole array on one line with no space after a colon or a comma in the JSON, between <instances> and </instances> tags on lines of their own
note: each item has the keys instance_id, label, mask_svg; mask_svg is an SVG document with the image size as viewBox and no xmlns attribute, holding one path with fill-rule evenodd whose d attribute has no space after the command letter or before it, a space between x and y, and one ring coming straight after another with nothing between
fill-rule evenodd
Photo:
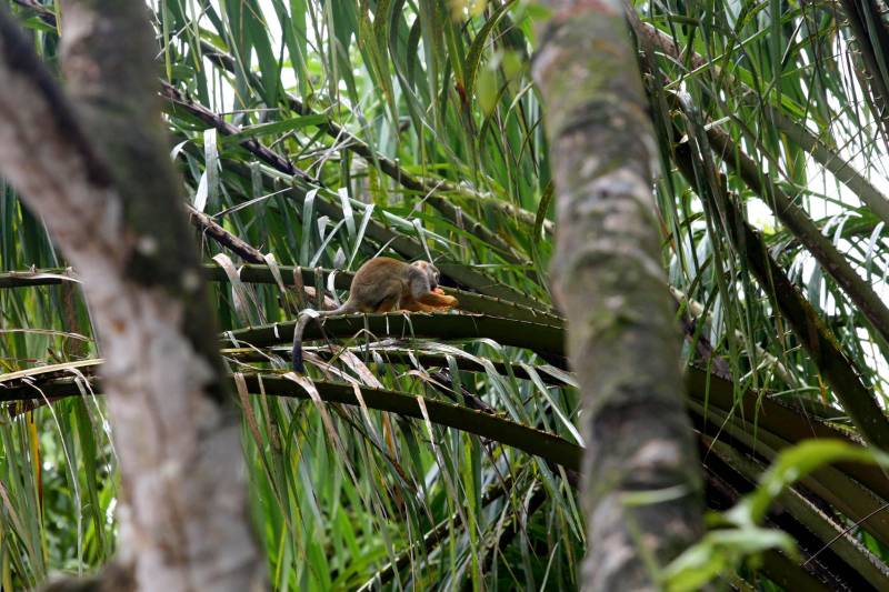
<instances>
[{"instance_id":1,"label":"small squirrel monkey with orange forearms crouching on a palm frond stem","mask_svg":"<svg viewBox=\"0 0 889 592\"><path fill-rule=\"evenodd\" d=\"M438 287L439 271L428 261L404 263L389 257L374 257L358 269L349 288L349 299L336 310L320 311L321 319L349 312L389 312L407 310L431 312L449 310L457 299ZM293 330L293 370L303 372L302 333L312 315L302 311Z\"/></svg>"}]
</instances>

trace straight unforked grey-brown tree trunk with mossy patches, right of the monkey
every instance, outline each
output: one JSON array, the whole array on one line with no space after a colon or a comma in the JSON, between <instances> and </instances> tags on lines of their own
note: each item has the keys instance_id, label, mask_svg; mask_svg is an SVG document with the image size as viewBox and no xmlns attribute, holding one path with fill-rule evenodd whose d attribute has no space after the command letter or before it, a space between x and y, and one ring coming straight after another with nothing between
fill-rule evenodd
<instances>
[{"instance_id":1,"label":"straight unforked grey-brown tree trunk with mossy patches, right of the monkey","mask_svg":"<svg viewBox=\"0 0 889 592\"><path fill-rule=\"evenodd\" d=\"M618 0L550 0L535 79L557 187L553 292L583 393L586 590L657 590L702 531L679 332L651 193L657 157Z\"/></svg>"}]
</instances>

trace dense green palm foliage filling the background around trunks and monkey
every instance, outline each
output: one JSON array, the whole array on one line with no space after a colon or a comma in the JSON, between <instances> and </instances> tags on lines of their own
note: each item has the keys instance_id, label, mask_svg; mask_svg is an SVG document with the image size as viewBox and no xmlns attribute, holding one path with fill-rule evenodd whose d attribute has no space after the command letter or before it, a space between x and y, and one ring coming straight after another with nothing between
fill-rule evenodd
<instances>
[{"instance_id":1,"label":"dense green palm foliage filling the background around trunks and monkey","mask_svg":"<svg viewBox=\"0 0 889 592\"><path fill-rule=\"evenodd\" d=\"M9 4L56 69L58 3ZM549 293L556 192L529 70L546 11L149 4L274 588L577 588L579 397ZM717 574L886 586L882 4L635 4L708 504L762 483L667 573L687 589ZM18 590L113 555L120 475L77 270L0 188L0 584ZM431 259L462 312L329 320L324 339L310 324L313 385L282 378L287 323L341 301L376 254ZM812 437L847 444L791 449ZM832 460L865 462L809 473Z\"/></svg>"}]
</instances>

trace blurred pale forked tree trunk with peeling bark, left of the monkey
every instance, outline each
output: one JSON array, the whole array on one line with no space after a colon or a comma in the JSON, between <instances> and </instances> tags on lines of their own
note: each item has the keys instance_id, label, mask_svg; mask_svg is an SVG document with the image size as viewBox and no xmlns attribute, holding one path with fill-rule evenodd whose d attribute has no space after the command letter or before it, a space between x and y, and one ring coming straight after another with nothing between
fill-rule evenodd
<instances>
[{"instance_id":1,"label":"blurred pale forked tree trunk with peeling bark, left of the monkey","mask_svg":"<svg viewBox=\"0 0 889 592\"><path fill-rule=\"evenodd\" d=\"M250 590L262 572L238 420L167 153L146 7L63 9L70 96L0 9L0 173L43 218L93 311L124 435L119 561L139 590Z\"/></svg>"}]
</instances>

